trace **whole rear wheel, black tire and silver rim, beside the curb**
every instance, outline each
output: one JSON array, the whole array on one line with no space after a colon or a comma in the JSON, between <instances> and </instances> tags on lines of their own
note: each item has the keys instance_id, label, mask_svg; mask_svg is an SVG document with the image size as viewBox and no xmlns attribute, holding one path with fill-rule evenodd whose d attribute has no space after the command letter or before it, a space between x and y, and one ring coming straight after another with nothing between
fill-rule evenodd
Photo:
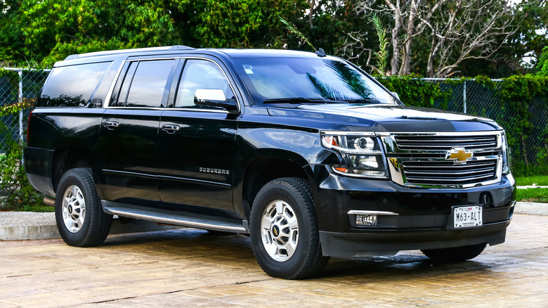
<instances>
[{"instance_id":1,"label":"whole rear wheel, black tire and silver rim, beside the curb","mask_svg":"<svg viewBox=\"0 0 548 308\"><path fill-rule=\"evenodd\" d=\"M112 215L103 212L91 169L70 169L59 181L56 222L67 245L96 246L107 238Z\"/></svg>"}]
</instances>

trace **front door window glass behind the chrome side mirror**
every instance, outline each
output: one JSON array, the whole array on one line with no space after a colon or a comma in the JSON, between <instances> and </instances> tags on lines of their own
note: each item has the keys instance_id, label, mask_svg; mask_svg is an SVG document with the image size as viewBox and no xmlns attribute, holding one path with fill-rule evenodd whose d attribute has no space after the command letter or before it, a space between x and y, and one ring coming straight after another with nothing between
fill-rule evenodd
<instances>
[{"instance_id":1,"label":"front door window glass behind the chrome side mirror","mask_svg":"<svg viewBox=\"0 0 548 308\"><path fill-rule=\"evenodd\" d=\"M226 98L234 96L223 71L215 63L207 60L188 60L179 82L175 107L204 108L194 103L197 89L221 89L225 92Z\"/></svg>"}]
</instances>

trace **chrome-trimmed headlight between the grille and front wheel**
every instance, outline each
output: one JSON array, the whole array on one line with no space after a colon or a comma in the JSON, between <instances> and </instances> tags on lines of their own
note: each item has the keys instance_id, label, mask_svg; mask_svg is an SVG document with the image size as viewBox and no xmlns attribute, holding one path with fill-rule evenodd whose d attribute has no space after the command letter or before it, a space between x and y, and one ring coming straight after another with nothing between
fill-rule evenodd
<instances>
[{"instance_id":1,"label":"chrome-trimmed headlight between the grille and front wheel","mask_svg":"<svg viewBox=\"0 0 548 308\"><path fill-rule=\"evenodd\" d=\"M345 164L333 172L353 177L388 178L379 138L370 133L322 132L322 145L341 154Z\"/></svg>"}]
</instances>

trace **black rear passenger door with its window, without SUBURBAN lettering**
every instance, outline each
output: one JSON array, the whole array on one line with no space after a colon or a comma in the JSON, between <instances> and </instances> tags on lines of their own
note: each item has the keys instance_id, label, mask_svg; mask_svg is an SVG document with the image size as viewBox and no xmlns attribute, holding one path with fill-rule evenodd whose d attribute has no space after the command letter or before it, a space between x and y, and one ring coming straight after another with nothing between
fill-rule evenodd
<instances>
[{"instance_id":1,"label":"black rear passenger door with its window, without SUBURBAN lettering","mask_svg":"<svg viewBox=\"0 0 548 308\"><path fill-rule=\"evenodd\" d=\"M129 60L101 122L100 191L105 200L159 200L159 119L178 60Z\"/></svg>"}]
</instances>

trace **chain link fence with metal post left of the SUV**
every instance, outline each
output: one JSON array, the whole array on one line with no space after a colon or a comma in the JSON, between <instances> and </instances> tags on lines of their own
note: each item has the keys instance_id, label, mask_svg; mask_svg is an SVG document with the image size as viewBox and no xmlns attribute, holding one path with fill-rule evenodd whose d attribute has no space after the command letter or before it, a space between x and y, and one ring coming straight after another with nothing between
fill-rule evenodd
<instances>
[{"instance_id":1,"label":"chain link fence with metal post left of the SUV","mask_svg":"<svg viewBox=\"0 0 548 308\"><path fill-rule=\"evenodd\" d=\"M0 105L2 106L36 98L49 72L49 70L25 70L22 68L2 68L0 70L11 72L0 75ZM30 109L27 109L16 115L0 117L1 123L7 129L0 133L0 154L6 152L10 139L21 142L26 140L29 114Z\"/></svg>"}]
</instances>

